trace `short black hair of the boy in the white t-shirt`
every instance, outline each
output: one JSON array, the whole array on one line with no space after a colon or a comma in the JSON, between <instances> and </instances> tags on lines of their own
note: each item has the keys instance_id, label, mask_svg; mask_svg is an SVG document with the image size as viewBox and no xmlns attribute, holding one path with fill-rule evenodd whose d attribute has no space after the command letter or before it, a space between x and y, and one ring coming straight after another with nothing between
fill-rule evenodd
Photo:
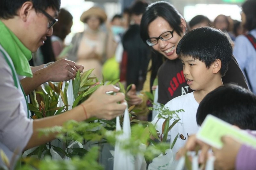
<instances>
[{"instance_id":1,"label":"short black hair of the boy in the white t-shirt","mask_svg":"<svg viewBox=\"0 0 256 170\"><path fill-rule=\"evenodd\" d=\"M227 36L220 30L212 27L201 27L185 34L177 45L178 56L191 56L205 63L210 68L217 59L221 61L220 74L228 70L232 57L232 46Z\"/></svg>"}]
</instances>

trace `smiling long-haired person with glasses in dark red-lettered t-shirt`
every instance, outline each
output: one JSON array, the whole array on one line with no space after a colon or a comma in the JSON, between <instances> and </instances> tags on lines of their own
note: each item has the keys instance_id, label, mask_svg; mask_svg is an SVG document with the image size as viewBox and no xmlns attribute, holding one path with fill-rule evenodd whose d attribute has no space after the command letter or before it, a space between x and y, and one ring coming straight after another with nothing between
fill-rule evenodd
<instances>
[{"instance_id":1,"label":"smiling long-haired person with glasses in dark red-lettered t-shirt","mask_svg":"<svg viewBox=\"0 0 256 170\"><path fill-rule=\"evenodd\" d=\"M141 19L140 37L154 53L158 53L158 56L161 57L159 60L162 60L162 56L166 58L157 74L157 102L164 105L175 97L192 92L184 78L182 64L176 54L176 46L186 32L185 19L168 2L159 1L148 5ZM154 67L155 65L156 63L152 62L151 68L158 68ZM148 83L146 86L152 87L152 83L149 85L149 82L153 82L155 78L151 76L150 81L146 80L145 83ZM232 57L229 69L222 77L222 81L224 84L235 83L248 89L244 75L234 57ZM128 103L136 106L145 103L144 100L147 98L136 95L134 91L136 89L133 88L127 92L130 97Z\"/></svg>"}]
</instances>

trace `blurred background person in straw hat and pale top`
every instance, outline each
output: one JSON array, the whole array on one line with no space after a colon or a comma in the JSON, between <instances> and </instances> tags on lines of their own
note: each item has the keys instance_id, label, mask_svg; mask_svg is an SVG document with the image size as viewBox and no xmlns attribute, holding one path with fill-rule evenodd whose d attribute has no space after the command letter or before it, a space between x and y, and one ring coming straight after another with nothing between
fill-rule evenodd
<instances>
[{"instance_id":1,"label":"blurred background person in straw hat and pale top","mask_svg":"<svg viewBox=\"0 0 256 170\"><path fill-rule=\"evenodd\" d=\"M85 29L73 37L73 48L68 54L68 59L84 65L84 70L93 68L92 73L101 80L103 59L105 56L112 56L109 52L113 42L112 35L107 36L107 33L100 30L100 26L107 20L107 15L100 7L92 7L82 13L80 20L85 23Z\"/></svg>"}]
</instances>

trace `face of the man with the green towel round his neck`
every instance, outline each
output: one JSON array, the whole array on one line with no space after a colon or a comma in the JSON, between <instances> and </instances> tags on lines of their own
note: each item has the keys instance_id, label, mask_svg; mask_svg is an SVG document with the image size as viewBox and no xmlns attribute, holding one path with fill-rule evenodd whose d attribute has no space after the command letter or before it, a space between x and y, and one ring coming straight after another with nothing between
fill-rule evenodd
<instances>
[{"instance_id":1,"label":"face of the man with the green towel round his neck","mask_svg":"<svg viewBox=\"0 0 256 170\"><path fill-rule=\"evenodd\" d=\"M52 18L40 11L36 12L35 9L32 9L28 16L28 22L25 24L26 33L24 33L21 41L32 52L36 52L40 46L44 45L46 36L52 35L52 27L48 28L48 26L52 22L52 19L57 16L57 11L48 8L44 12Z\"/></svg>"}]
</instances>

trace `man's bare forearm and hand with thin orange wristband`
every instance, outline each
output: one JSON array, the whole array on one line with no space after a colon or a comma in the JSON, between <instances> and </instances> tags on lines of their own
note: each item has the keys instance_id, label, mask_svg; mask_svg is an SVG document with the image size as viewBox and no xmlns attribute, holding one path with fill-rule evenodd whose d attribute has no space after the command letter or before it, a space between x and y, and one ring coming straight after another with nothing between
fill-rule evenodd
<instances>
[{"instance_id":1,"label":"man's bare forearm and hand with thin orange wristband","mask_svg":"<svg viewBox=\"0 0 256 170\"><path fill-rule=\"evenodd\" d=\"M34 120L33 134L28 141L25 150L51 141L56 136L56 134L50 134L49 136L42 136L39 138L37 129L62 126L63 123L67 122L68 120L75 120L80 122L85 120L86 117L98 117L100 119L111 120L114 117L121 115L127 105L126 102L122 102L121 104L118 104L117 102L124 101L124 94L118 92L115 96L109 96L106 94L108 91L118 92L119 89L113 85L101 86L89 97L88 100L82 103L86 109L86 113L84 112L84 108L82 106L77 106L76 108L60 115Z\"/></svg>"}]
</instances>

